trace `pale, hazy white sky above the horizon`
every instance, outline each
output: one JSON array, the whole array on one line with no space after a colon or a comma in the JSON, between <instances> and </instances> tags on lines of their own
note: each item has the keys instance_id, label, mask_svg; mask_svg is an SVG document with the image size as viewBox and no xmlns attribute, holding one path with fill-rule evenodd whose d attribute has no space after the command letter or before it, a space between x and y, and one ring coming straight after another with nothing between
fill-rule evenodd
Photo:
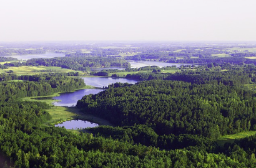
<instances>
[{"instance_id":1,"label":"pale, hazy white sky above the horizon","mask_svg":"<svg viewBox=\"0 0 256 168\"><path fill-rule=\"evenodd\" d=\"M255 0L0 0L0 41L254 40Z\"/></svg>"}]
</instances>

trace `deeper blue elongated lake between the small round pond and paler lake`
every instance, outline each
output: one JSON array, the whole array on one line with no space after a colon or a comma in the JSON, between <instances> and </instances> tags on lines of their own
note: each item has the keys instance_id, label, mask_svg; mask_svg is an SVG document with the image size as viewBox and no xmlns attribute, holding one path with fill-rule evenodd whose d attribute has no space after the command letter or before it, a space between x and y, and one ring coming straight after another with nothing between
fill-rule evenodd
<instances>
[{"instance_id":1,"label":"deeper blue elongated lake between the small round pond and paler lake","mask_svg":"<svg viewBox=\"0 0 256 168\"><path fill-rule=\"evenodd\" d=\"M60 100L54 101L53 105L67 107L76 106L77 101L81 100L83 96L89 94L97 94L100 91L103 91L103 89L82 89L76 90L74 92L61 93L59 96L52 98L54 100Z\"/></svg>"}]
</instances>

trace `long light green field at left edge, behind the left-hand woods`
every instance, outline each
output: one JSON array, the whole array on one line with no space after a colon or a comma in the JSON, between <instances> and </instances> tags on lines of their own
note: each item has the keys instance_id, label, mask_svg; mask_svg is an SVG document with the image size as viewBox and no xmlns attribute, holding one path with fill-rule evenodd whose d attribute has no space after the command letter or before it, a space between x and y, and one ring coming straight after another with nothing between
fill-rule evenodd
<instances>
[{"instance_id":1,"label":"long light green field at left edge, behind the left-hand woods","mask_svg":"<svg viewBox=\"0 0 256 168\"><path fill-rule=\"evenodd\" d=\"M77 72L75 70L70 70L61 67L30 67L30 66L22 66L22 67L9 67L7 69L0 69L0 73L6 73L9 70L12 70L16 75L36 75L40 73L57 73L57 72ZM81 72L80 72L81 73Z\"/></svg>"}]
</instances>

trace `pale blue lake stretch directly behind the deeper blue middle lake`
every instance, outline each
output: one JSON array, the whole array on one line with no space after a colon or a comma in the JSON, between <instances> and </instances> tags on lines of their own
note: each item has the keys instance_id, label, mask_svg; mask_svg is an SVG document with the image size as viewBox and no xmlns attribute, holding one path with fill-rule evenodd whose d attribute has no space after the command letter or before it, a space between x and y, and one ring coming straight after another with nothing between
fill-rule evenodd
<instances>
[{"instance_id":1,"label":"pale blue lake stretch directly behind the deeper blue middle lake","mask_svg":"<svg viewBox=\"0 0 256 168\"><path fill-rule=\"evenodd\" d=\"M86 85L91 85L99 88L103 88L103 86L111 85L112 83L130 83L134 84L136 82L139 82L137 80L130 80L127 78L111 78L111 77L86 77L82 78L84 82L86 82Z\"/></svg>"}]
</instances>

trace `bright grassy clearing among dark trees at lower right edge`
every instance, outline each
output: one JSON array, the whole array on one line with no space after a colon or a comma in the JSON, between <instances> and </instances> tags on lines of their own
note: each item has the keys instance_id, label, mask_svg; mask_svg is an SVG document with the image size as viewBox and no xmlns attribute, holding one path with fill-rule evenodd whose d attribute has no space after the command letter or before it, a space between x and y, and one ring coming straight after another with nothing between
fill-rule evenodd
<instances>
[{"instance_id":1,"label":"bright grassy clearing among dark trees at lower right edge","mask_svg":"<svg viewBox=\"0 0 256 168\"><path fill-rule=\"evenodd\" d=\"M242 132L242 133L225 135L225 136L221 136L217 140L217 143L219 144L219 146L224 146L225 142L234 143L235 139L245 138L247 136L252 136L254 134L256 134L256 131L245 131L245 132Z\"/></svg>"}]
</instances>

